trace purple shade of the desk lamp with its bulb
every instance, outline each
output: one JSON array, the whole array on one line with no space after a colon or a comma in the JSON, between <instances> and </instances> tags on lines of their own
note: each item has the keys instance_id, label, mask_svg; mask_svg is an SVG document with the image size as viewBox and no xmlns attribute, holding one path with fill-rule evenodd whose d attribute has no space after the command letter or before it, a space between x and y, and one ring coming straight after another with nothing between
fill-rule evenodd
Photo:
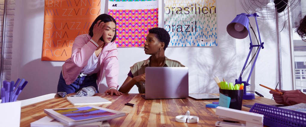
<instances>
[{"instance_id":1,"label":"purple shade of the desk lamp with its bulb","mask_svg":"<svg viewBox=\"0 0 306 127\"><path fill-rule=\"evenodd\" d=\"M237 39L243 39L248 36L249 19L245 13L237 15L236 18L227 25L226 31L230 36Z\"/></svg>"}]
</instances>

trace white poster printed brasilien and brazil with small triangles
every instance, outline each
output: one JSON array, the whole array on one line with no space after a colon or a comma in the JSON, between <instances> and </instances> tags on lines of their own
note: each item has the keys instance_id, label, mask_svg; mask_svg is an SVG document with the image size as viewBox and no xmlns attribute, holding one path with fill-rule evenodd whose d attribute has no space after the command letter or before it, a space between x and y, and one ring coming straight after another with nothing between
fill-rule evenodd
<instances>
[{"instance_id":1,"label":"white poster printed brasilien and brazil with small triangles","mask_svg":"<svg viewBox=\"0 0 306 127\"><path fill-rule=\"evenodd\" d=\"M216 0L164 0L169 46L217 46Z\"/></svg>"}]
</instances>

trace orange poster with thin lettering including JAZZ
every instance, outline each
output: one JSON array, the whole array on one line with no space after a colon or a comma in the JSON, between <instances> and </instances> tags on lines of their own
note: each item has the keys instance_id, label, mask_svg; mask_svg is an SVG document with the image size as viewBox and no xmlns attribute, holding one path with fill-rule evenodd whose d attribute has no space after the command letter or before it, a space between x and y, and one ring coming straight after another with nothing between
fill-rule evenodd
<instances>
[{"instance_id":1,"label":"orange poster with thin lettering including JAZZ","mask_svg":"<svg viewBox=\"0 0 306 127\"><path fill-rule=\"evenodd\" d=\"M71 57L76 36L88 34L100 15L100 0L45 0L41 60L65 61Z\"/></svg>"}]
</instances>

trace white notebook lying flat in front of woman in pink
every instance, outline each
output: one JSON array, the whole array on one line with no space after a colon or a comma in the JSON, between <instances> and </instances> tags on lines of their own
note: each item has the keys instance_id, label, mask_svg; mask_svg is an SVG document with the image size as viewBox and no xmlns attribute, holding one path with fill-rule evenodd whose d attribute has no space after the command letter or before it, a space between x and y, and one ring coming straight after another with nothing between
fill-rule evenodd
<instances>
[{"instance_id":1,"label":"white notebook lying flat in front of woman in pink","mask_svg":"<svg viewBox=\"0 0 306 127\"><path fill-rule=\"evenodd\" d=\"M105 104L112 103L99 96L79 96L79 97L67 97L67 100L73 105L90 105L90 104Z\"/></svg>"}]
</instances>

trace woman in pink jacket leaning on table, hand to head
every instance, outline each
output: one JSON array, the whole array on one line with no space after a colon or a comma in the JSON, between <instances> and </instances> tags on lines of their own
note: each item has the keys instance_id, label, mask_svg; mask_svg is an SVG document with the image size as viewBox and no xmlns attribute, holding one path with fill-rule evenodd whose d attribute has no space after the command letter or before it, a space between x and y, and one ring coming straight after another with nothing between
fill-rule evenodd
<instances>
[{"instance_id":1,"label":"woman in pink jacket leaning on table, hand to head","mask_svg":"<svg viewBox=\"0 0 306 127\"><path fill-rule=\"evenodd\" d=\"M105 94L123 94L117 90L119 63L114 42L116 24L112 16L101 14L91 24L88 34L75 38L71 57L62 66L57 92L76 93L92 86L99 93L99 84L105 73L108 86Z\"/></svg>"}]
</instances>

